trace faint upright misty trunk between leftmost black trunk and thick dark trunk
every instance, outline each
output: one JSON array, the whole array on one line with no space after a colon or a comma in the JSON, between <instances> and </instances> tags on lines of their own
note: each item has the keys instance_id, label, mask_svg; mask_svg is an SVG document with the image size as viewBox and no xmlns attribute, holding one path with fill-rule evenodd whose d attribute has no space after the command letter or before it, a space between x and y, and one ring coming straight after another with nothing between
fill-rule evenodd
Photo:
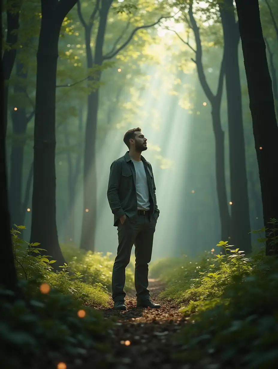
<instances>
[{"instance_id":1,"label":"faint upright misty trunk between leftmost black trunk and thick dark trunk","mask_svg":"<svg viewBox=\"0 0 278 369\"><path fill-rule=\"evenodd\" d=\"M19 78L27 78L23 72L23 64L16 63L16 75ZM23 94L24 89L19 85L14 86L15 94ZM23 158L25 134L27 129L26 109L18 106L17 110L11 111L13 124L13 140L10 155L10 211L11 224L23 225L23 214L21 213L23 192Z\"/></svg>"}]
</instances>

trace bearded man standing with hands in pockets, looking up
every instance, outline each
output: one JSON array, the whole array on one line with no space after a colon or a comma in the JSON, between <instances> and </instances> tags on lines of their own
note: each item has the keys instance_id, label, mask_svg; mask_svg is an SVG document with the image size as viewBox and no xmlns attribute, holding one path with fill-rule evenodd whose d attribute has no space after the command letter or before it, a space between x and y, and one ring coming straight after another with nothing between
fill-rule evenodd
<instances>
[{"instance_id":1,"label":"bearded man standing with hands in pockets, looking up","mask_svg":"<svg viewBox=\"0 0 278 369\"><path fill-rule=\"evenodd\" d=\"M124 284L126 267L135 245L136 307L160 308L150 299L148 263L159 216L151 164L141 152L147 150L147 138L141 128L124 135L128 151L110 167L107 198L118 227L119 246L112 273L112 299L115 310L126 310Z\"/></svg>"}]
</instances>

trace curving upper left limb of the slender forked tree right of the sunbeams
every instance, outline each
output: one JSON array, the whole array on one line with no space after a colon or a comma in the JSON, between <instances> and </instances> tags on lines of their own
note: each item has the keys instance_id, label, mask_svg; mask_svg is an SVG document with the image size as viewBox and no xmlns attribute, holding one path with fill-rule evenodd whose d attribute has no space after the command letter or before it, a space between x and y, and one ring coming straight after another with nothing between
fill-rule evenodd
<instances>
[{"instance_id":1,"label":"curving upper left limb of the slender forked tree right of the sunbeams","mask_svg":"<svg viewBox=\"0 0 278 369\"><path fill-rule=\"evenodd\" d=\"M201 44L201 39L200 39L200 31L199 31L199 27L196 23L196 20L193 16L192 4L190 4L190 6L189 6L188 14L189 14L189 19L190 19L191 24L192 24L192 30L193 30L194 36L195 36L195 42L196 42L196 61L195 61L195 63L196 63L196 66L197 66L197 72L198 72L199 80L200 80L200 83L202 85L202 88L203 88L207 98L212 103L213 100L215 99L215 96L212 93L212 90L210 89L210 87L207 83L206 76L205 76L205 73L204 73L204 68L203 68L203 63L202 63L202 44Z\"/></svg>"}]
</instances>

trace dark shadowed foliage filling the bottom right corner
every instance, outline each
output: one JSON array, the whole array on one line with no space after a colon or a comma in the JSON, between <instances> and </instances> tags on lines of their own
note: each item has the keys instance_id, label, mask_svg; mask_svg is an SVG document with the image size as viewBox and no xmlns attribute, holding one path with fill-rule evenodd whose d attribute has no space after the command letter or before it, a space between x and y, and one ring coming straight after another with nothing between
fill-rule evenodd
<instances>
[{"instance_id":1,"label":"dark shadowed foliage filling the bottom right corner","mask_svg":"<svg viewBox=\"0 0 278 369\"><path fill-rule=\"evenodd\" d=\"M259 262L258 262L259 261ZM222 297L199 301L181 334L178 357L202 368L276 368L278 261L259 258ZM200 358L201 362L200 362Z\"/></svg>"}]
</instances>

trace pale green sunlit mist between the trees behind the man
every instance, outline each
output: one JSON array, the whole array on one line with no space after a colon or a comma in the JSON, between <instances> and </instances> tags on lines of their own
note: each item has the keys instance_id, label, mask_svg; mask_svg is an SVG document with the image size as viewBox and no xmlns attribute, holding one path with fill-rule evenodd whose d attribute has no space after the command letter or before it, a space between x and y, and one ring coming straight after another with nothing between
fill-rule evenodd
<instances>
[{"instance_id":1,"label":"pale green sunlit mist between the trees behind the man","mask_svg":"<svg viewBox=\"0 0 278 369\"><path fill-rule=\"evenodd\" d=\"M92 11L90 4L82 1L81 5L83 17L87 19ZM151 23L153 18L157 19L155 12L148 14L148 17L152 19L146 19L145 23ZM202 18L198 13L195 17L198 20ZM109 14L104 45L107 55L115 46L113 46L115 37L122 34L127 18L126 13ZM190 34L187 38L186 25L179 19L175 21L174 18L164 20L147 30L141 30L126 48L111 59L113 62L107 61L103 66L100 85L92 87L86 81L84 29L76 9L71 11L69 19L71 21L68 24L65 21L62 29L63 37L59 40L56 88L56 221L59 242L79 247L82 218L84 212L91 211L83 204L83 154L87 97L97 88L99 110L95 142L97 178L95 251L116 253L117 229L113 227L113 214L106 195L109 170L111 163L127 151L123 142L124 133L138 126L148 139L148 150L143 155L151 162L154 170L160 209L154 237L153 260L165 256L195 256L211 249L222 237L215 175L215 137L212 107L200 85L194 61L194 35ZM267 23L263 22L263 26L268 35ZM97 25L94 27L92 49L95 47ZM207 83L215 94L223 54L222 31L220 25L213 21L203 22L200 28L203 70ZM114 39L113 30L116 30ZM129 33L126 31L125 34ZM187 40L187 44L180 38L183 38L183 41ZM36 37L34 36L30 42L36 45ZM239 46L238 52L249 218L252 230L263 225L262 205L243 56ZM15 160L13 155L16 154L12 152L15 146L24 145L23 180L20 189L24 208L20 219L27 228L24 238L29 239L32 216L30 171L33 160L34 119L30 119L25 132L15 132L13 128L14 114L22 113L23 109L26 114L32 114L34 107L35 52L28 57L26 54L28 50L27 52L23 50L22 55L19 53L13 71L14 79L10 83L7 154L10 158L8 172L12 197L15 187L11 172L17 173L17 169L13 168L16 167L16 162L13 162ZM277 59L274 59L274 65L277 66ZM24 73L28 75L25 76ZM17 89L18 78L25 79L28 97L26 95L23 97L23 92ZM225 80L223 84L220 115L225 143L227 205L231 214L231 207L234 204L230 191ZM12 218L14 222L18 222L19 217L13 211ZM47 231L48 225L45 224L45 232Z\"/></svg>"}]
</instances>

